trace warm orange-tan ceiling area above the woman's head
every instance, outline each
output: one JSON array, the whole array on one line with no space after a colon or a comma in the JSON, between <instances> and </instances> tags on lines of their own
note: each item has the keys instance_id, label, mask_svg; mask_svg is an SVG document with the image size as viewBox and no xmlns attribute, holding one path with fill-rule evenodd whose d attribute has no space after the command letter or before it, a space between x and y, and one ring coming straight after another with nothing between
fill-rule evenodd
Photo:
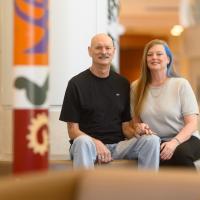
<instances>
[{"instance_id":1,"label":"warm orange-tan ceiling area above the woman's head","mask_svg":"<svg viewBox=\"0 0 200 200\"><path fill-rule=\"evenodd\" d=\"M181 0L121 0L119 21L126 33L169 35L180 24Z\"/></svg>"}]
</instances>

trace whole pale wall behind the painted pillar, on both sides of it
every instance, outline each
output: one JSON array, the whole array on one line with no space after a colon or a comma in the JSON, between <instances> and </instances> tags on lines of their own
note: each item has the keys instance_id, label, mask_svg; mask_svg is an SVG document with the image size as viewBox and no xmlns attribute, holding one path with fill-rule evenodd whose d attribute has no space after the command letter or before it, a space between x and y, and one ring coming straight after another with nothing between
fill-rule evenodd
<instances>
[{"instance_id":1,"label":"whole pale wall behind the painted pillar, on both sides of it","mask_svg":"<svg viewBox=\"0 0 200 200\"><path fill-rule=\"evenodd\" d=\"M0 0L0 160L12 159L13 0ZM107 32L107 0L49 0L50 157L68 155L66 123L58 120L68 80L90 66L91 37Z\"/></svg>"}]
</instances>

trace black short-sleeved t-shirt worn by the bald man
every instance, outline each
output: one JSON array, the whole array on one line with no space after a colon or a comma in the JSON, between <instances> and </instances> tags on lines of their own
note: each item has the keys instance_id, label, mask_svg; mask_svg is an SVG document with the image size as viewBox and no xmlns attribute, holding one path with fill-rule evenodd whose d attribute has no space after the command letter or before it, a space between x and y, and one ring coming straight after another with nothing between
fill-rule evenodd
<instances>
[{"instance_id":1,"label":"black short-sleeved t-shirt worn by the bald man","mask_svg":"<svg viewBox=\"0 0 200 200\"><path fill-rule=\"evenodd\" d=\"M81 131L113 144L124 140L122 122L130 119L130 84L124 77L110 71L98 78L87 69L69 81L61 121L79 123Z\"/></svg>"}]
</instances>

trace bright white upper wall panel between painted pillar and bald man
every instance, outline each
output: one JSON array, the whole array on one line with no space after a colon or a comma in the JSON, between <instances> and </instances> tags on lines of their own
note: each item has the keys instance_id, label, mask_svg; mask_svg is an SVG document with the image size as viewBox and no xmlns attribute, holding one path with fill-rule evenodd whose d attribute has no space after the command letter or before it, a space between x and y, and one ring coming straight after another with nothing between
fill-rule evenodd
<instances>
[{"instance_id":1,"label":"bright white upper wall panel between painted pillar and bald man","mask_svg":"<svg viewBox=\"0 0 200 200\"><path fill-rule=\"evenodd\" d=\"M59 2L59 3L58 3ZM70 77L90 66L87 47L107 26L106 0L50 1L51 104L61 105Z\"/></svg>"}]
</instances>

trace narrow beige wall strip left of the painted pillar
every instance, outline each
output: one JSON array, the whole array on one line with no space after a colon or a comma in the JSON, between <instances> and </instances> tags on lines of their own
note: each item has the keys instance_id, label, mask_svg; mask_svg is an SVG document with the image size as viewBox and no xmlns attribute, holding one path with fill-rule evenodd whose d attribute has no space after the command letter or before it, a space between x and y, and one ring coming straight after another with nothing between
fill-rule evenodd
<instances>
[{"instance_id":1,"label":"narrow beige wall strip left of the painted pillar","mask_svg":"<svg viewBox=\"0 0 200 200\"><path fill-rule=\"evenodd\" d=\"M5 9L6 8L6 9ZM12 159L12 1L0 1L0 159Z\"/></svg>"}]
</instances>

